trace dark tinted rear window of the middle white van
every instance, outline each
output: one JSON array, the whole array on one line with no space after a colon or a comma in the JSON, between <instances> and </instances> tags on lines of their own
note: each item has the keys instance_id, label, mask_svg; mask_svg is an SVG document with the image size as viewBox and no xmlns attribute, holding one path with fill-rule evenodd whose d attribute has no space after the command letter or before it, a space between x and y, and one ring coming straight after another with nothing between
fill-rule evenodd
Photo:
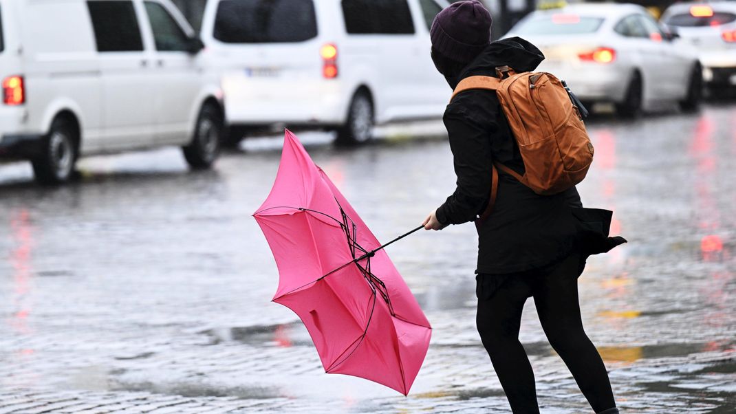
<instances>
[{"instance_id":1,"label":"dark tinted rear window of the middle white van","mask_svg":"<svg viewBox=\"0 0 736 414\"><path fill-rule=\"evenodd\" d=\"M223 0L214 38L224 43L292 43L316 37L312 0Z\"/></svg>"}]
</instances>

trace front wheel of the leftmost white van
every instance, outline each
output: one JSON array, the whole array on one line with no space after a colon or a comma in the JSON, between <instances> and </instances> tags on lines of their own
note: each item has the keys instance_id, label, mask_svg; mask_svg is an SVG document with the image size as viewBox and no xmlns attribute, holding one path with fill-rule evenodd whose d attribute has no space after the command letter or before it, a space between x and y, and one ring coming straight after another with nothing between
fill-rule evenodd
<instances>
[{"instance_id":1,"label":"front wheel of the leftmost white van","mask_svg":"<svg viewBox=\"0 0 736 414\"><path fill-rule=\"evenodd\" d=\"M188 146L182 147L184 158L191 168L210 168L220 153L222 116L212 104L205 104L199 111L194 137Z\"/></svg>"}]
</instances>

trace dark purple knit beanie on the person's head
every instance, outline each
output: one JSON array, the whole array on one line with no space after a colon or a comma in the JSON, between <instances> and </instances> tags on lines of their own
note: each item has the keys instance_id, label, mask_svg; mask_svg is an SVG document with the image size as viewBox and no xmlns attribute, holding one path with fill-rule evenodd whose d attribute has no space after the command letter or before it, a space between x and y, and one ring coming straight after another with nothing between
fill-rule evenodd
<instances>
[{"instance_id":1,"label":"dark purple knit beanie on the person's head","mask_svg":"<svg viewBox=\"0 0 736 414\"><path fill-rule=\"evenodd\" d=\"M432 21L432 47L451 60L470 62L488 46L492 21L478 0L450 4Z\"/></svg>"}]
</instances>

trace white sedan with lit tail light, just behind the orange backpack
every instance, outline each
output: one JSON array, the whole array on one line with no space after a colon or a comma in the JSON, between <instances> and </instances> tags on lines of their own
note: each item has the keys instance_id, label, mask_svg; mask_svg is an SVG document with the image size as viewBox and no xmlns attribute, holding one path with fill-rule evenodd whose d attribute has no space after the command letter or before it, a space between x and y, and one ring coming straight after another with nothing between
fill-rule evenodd
<instances>
[{"instance_id":1,"label":"white sedan with lit tail light, just behind the orange backpack","mask_svg":"<svg viewBox=\"0 0 736 414\"><path fill-rule=\"evenodd\" d=\"M613 102L634 116L661 101L695 110L701 65L695 51L634 4L576 4L531 13L506 37L539 47L539 71L563 79L584 102Z\"/></svg>"}]
</instances>

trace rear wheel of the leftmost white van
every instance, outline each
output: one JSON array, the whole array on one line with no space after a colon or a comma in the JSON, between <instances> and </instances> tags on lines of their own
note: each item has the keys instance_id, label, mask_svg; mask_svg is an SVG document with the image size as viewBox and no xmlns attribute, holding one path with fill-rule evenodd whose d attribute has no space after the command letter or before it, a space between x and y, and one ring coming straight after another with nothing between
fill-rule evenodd
<instances>
[{"instance_id":1,"label":"rear wheel of the leftmost white van","mask_svg":"<svg viewBox=\"0 0 736 414\"><path fill-rule=\"evenodd\" d=\"M74 125L66 118L56 118L43 138L43 152L31 160L33 174L41 184L68 181L77 163L79 146Z\"/></svg>"}]
</instances>

